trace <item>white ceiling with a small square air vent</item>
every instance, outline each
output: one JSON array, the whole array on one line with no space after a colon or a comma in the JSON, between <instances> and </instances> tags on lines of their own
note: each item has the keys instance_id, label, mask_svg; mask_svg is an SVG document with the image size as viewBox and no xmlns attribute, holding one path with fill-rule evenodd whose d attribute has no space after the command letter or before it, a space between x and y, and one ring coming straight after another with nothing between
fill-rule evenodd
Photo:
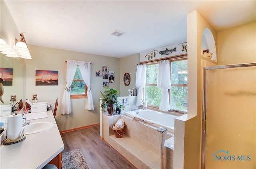
<instances>
[{"instance_id":1,"label":"white ceiling with a small square air vent","mask_svg":"<svg viewBox=\"0 0 256 169\"><path fill-rule=\"evenodd\" d=\"M5 2L28 44L119 58L186 41L194 10L216 31L256 21L256 0Z\"/></svg>"}]
</instances>

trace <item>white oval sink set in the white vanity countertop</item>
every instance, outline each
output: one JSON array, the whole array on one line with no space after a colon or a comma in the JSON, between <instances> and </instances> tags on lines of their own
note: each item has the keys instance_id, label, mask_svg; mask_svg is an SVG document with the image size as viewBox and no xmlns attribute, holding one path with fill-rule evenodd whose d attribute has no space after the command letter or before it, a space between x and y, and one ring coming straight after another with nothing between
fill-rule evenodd
<instances>
[{"instance_id":1,"label":"white oval sink set in the white vanity countertop","mask_svg":"<svg viewBox=\"0 0 256 169\"><path fill-rule=\"evenodd\" d=\"M25 134L35 134L39 132L43 132L52 128L53 123L51 122L36 122L30 123L29 125L24 127Z\"/></svg>"}]
</instances>

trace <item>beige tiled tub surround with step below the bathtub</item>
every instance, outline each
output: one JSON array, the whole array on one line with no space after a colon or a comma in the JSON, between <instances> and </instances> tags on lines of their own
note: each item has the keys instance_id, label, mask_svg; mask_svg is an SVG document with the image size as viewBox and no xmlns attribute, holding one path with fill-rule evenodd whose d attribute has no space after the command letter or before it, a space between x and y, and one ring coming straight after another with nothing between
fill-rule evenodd
<instances>
[{"instance_id":1,"label":"beige tiled tub surround with step below the bathtub","mask_svg":"<svg viewBox=\"0 0 256 169\"><path fill-rule=\"evenodd\" d=\"M124 120L125 130L122 138L116 138L111 126L119 118ZM125 114L103 116L104 140L121 153L138 169L161 168L161 140L162 133L156 131L158 127L144 122L136 122ZM173 135L173 134L172 134ZM173 137L167 134L164 146L164 169L171 169L173 165Z\"/></svg>"}]
</instances>

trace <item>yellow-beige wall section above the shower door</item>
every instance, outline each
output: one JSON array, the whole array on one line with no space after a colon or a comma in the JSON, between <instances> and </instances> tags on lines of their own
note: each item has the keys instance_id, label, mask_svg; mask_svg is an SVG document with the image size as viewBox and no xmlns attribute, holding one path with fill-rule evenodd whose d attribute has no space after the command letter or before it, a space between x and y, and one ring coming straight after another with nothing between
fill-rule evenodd
<instances>
[{"instance_id":1,"label":"yellow-beige wall section above the shower door","mask_svg":"<svg viewBox=\"0 0 256 169\"><path fill-rule=\"evenodd\" d=\"M218 65L256 62L256 22L218 32Z\"/></svg>"}]
</instances>

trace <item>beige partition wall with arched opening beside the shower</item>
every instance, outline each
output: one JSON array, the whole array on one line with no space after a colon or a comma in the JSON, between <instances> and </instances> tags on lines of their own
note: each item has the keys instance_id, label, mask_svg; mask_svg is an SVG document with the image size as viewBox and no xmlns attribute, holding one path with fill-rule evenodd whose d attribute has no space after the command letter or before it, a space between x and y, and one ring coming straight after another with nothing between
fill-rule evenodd
<instances>
[{"instance_id":1,"label":"beige partition wall with arched opening beside the shower","mask_svg":"<svg viewBox=\"0 0 256 169\"><path fill-rule=\"evenodd\" d=\"M192 80L188 80L188 115L175 121L175 169L198 169L201 167L203 67L217 65L201 56L202 35L206 28L212 31L216 50L218 50L217 31L206 22L199 12L194 11L187 15L188 79Z\"/></svg>"}]
</instances>

